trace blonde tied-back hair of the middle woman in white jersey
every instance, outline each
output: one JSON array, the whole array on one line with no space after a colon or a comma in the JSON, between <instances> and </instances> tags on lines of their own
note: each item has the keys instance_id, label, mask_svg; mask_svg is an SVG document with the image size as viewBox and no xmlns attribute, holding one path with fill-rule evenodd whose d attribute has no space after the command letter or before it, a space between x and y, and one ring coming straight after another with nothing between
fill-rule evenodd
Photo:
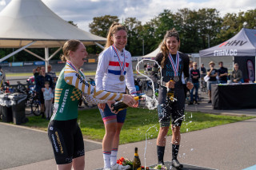
<instances>
[{"instance_id":1,"label":"blonde tied-back hair of the middle woman in white jersey","mask_svg":"<svg viewBox=\"0 0 256 170\"><path fill-rule=\"evenodd\" d=\"M113 41L111 40L111 37L118 32L118 30L125 30L127 33L126 26L122 26L122 24L119 24L118 22L114 22L109 29L109 32L106 37L106 45L104 49L107 49L110 47L110 45L113 45Z\"/></svg>"}]
</instances>

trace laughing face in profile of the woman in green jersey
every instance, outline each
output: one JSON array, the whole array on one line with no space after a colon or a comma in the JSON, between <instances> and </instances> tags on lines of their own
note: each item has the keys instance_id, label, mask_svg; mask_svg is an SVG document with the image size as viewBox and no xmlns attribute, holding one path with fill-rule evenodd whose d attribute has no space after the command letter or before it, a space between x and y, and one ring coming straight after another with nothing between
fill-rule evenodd
<instances>
[{"instance_id":1,"label":"laughing face in profile of the woman in green jersey","mask_svg":"<svg viewBox=\"0 0 256 170\"><path fill-rule=\"evenodd\" d=\"M70 61L73 65L80 69L87 57L88 53L86 52L86 47L82 43L78 45L78 49L75 51L70 51Z\"/></svg>"}]
</instances>

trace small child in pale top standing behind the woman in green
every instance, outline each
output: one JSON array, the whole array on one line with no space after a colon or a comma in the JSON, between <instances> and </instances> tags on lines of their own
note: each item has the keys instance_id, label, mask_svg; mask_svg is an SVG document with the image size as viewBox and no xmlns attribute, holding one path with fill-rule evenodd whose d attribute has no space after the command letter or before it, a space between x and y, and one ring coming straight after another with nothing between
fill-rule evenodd
<instances>
[{"instance_id":1,"label":"small child in pale top standing behind the woman in green","mask_svg":"<svg viewBox=\"0 0 256 170\"><path fill-rule=\"evenodd\" d=\"M45 117L46 120L50 121L51 117L51 104L54 101L54 93L53 90L50 88L49 81L45 82L45 88L42 88L43 98L45 100L46 112Z\"/></svg>"}]
</instances>

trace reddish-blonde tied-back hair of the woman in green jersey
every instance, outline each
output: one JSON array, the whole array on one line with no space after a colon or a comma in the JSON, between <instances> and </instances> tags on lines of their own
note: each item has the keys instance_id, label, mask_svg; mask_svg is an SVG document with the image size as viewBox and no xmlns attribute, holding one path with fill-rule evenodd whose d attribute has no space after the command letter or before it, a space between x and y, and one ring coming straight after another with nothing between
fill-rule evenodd
<instances>
[{"instance_id":1,"label":"reddish-blonde tied-back hair of the woman in green jersey","mask_svg":"<svg viewBox=\"0 0 256 170\"><path fill-rule=\"evenodd\" d=\"M62 47L62 61L67 61L70 57L70 51L76 51L81 43L82 42L80 42L79 40L69 40L65 42L65 44Z\"/></svg>"}]
</instances>

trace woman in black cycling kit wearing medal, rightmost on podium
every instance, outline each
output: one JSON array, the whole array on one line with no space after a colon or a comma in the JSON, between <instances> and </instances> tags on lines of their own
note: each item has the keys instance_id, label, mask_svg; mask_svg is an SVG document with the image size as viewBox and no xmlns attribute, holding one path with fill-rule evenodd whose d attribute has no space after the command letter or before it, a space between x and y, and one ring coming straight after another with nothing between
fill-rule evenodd
<instances>
[{"instance_id":1,"label":"woman in black cycling kit wearing medal, rightmost on podium","mask_svg":"<svg viewBox=\"0 0 256 170\"><path fill-rule=\"evenodd\" d=\"M163 156L166 147L166 135L170 128L172 131L172 166L182 168L178 162L178 149L181 141L180 128L184 117L185 95L182 85L182 73L185 79L189 74L190 58L184 53L178 53L180 39L178 32L173 29L166 32L161 45L161 53L155 58L162 67L162 83L159 88L158 96L158 118L160 129L157 139L158 164L164 164ZM186 82L188 89L193 88L193 84ZM171 101L167 97L167 89L174 90L174 98Z\"/></svg>"}]
</instances>

